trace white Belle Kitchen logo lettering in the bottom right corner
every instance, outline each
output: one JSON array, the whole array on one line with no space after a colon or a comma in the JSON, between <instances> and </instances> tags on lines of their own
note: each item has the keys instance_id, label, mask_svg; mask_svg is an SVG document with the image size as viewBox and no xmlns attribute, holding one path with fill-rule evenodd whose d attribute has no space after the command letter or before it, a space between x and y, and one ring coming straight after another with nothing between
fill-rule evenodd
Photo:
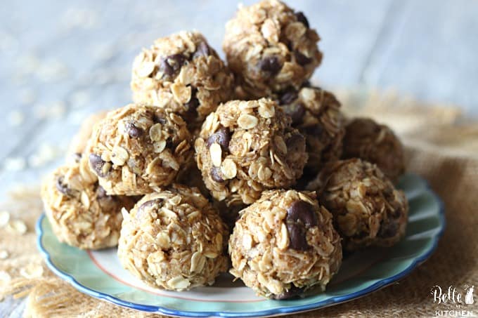
<instances>
[{"instance_id":1,"label":"white Belle Kitchen logo lettering in the bottom right corner","mask_svg":"<svg viewBox=\"0 0 478 318\"><path fill-rule=\"evenodd\" d=\"M465 285L463 289L456 286L433 286L430 293L433 303L437 304L435 317L474 317L472 306L474 304L474 285Z\"/></svg>"}]
</instances>

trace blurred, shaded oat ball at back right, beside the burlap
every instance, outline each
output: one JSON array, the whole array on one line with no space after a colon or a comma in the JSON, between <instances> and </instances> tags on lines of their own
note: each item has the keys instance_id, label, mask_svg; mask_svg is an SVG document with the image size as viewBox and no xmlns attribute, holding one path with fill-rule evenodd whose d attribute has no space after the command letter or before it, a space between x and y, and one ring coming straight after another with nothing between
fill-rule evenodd
<instances>
[{"instance_id":1,"label":"blurred, shaded oat ball at back right, beside the burlap","mask_svg":"<svg viewBox=\"0 0 478 318\"><path fill-rule=\"evenodd\" d=\"M356 118L345 128L344 159L355 157L376 164L393 181L405 171L399 138L388 126L372 119Z\"/></svg>"}]
</instances>

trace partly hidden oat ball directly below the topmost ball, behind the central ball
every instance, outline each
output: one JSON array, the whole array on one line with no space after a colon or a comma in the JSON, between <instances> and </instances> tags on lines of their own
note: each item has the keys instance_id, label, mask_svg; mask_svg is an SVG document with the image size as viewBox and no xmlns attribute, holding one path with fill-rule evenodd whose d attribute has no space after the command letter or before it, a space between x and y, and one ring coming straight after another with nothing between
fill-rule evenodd
<instances>
[{"instance_id":1,"label":"partly hidden oat ball directly below the topmost ball, behind the central ball","mask_svg":"<svg viewBox=\"0 0 478 318\"><path fill-rule=\"evenodd\" d=\"M340 159L344 116L332 93L303 86L298 92L290 90L279 95L278 103L292 118L292 127L306 138L307 173L316 174L325 162Z\"/></svg>"}]
</instances>

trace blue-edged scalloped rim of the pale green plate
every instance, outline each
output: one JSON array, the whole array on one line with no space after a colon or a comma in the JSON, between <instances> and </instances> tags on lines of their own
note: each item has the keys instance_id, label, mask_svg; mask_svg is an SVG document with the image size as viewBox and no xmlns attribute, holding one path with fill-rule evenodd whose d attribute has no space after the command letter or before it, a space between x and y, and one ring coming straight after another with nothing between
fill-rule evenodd
<instances>
[{"instance_id":1,"label":"blue-edged scalloped rim of the pale green plate","mask_svg":"<svg viewBox=\"0 0 478 318\"><path fill-rule=\"evenodd\" d=\"M416 267L424 263L430 256L432 256L434 251L437 249L438 241L443 236L445 228L446 228L444 202L441 200L438 194L436 194L432 190L432 187L429 186L429 183L425 178L422 178L420 175L417 175L415 173L406 173L406 175L411 175L411 176L414 176L415 178L418 177L420 181L425 183L425 191L428 192L429 194L432 194L432 197L434 197L434 200L437 202L439 206L438 215L439 215L439 220L441 223L441 228L439 232L436 235L434 235L433 244L431 248L426 253L413 258L413 262L410 265L408 265L406 269L402 270L398 274L395 274L391 277L380 279L379 281L376 281L374 284L368 286L366 289L361 289L360 291L355 291L354 293L348 293L347 295L343 295L343 296L334 296L326 300L320 300L316 303L311 303L306 305L278 307L278 308L260 310L255 312L224 312L224 311L193 312L188 310L173 310L160 305L143 305L139 303L131 303L126 300L117 298L115 296L111 296L108 293L95 291L89 287L86 287L83 284L79 283L75 279L75 277L72 277L71 274L68 274L67 272L63 272L63 270L60 270L58 267L56 267L56 265L53 264L50 254L46 251L42 243L44 230L41 223L46 217L45 213L41 213L41 216L39 217L35 225L35 230L37 232L37 247L41 255L44 256L46 265L49 267L49 269L58 277L60 277L64 281L67 281L67 283L75 287L75 289L77 289L78 291L81 291L82 293L85 293L86 295L108 301L109 303L120 305L122 307L128 307L134 310L141 310L143 312L156 312L156 313L166 314L166 315L174 316L174 317L271 317L271 316L278 316L283 314L292 314L292 313L306 312L311 310L318 310L323 307L329 307L330 305L338 305L340 303L346 303L347 301L361 298L363 296L368 295L369 293L373 293L382 288L385 288L386 286L389 286L390 284L394 284L394 282L399 281L403 277L406 277Z\"/></svg>"}]
</instances>

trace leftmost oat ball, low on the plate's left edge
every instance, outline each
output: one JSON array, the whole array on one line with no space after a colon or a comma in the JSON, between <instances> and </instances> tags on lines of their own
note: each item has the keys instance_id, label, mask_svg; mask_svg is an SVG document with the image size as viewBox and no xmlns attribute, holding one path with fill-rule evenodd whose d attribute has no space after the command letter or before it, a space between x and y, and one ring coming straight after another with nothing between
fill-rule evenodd
<instances>
[{"instance_id":1,"label":"leftmost oat ball, low on the plate's left edge","mask_svg":"<svg viewBox=\"0 0 478 318\"><path fill-rule=\"evenodd\" d=\"M53 233L80 249L103 249L118 244L121 208L134 206L134 197L106 194L89 172L88 161L61 166L41 186L41 198Z\"/></svg>"}]
</instances>

